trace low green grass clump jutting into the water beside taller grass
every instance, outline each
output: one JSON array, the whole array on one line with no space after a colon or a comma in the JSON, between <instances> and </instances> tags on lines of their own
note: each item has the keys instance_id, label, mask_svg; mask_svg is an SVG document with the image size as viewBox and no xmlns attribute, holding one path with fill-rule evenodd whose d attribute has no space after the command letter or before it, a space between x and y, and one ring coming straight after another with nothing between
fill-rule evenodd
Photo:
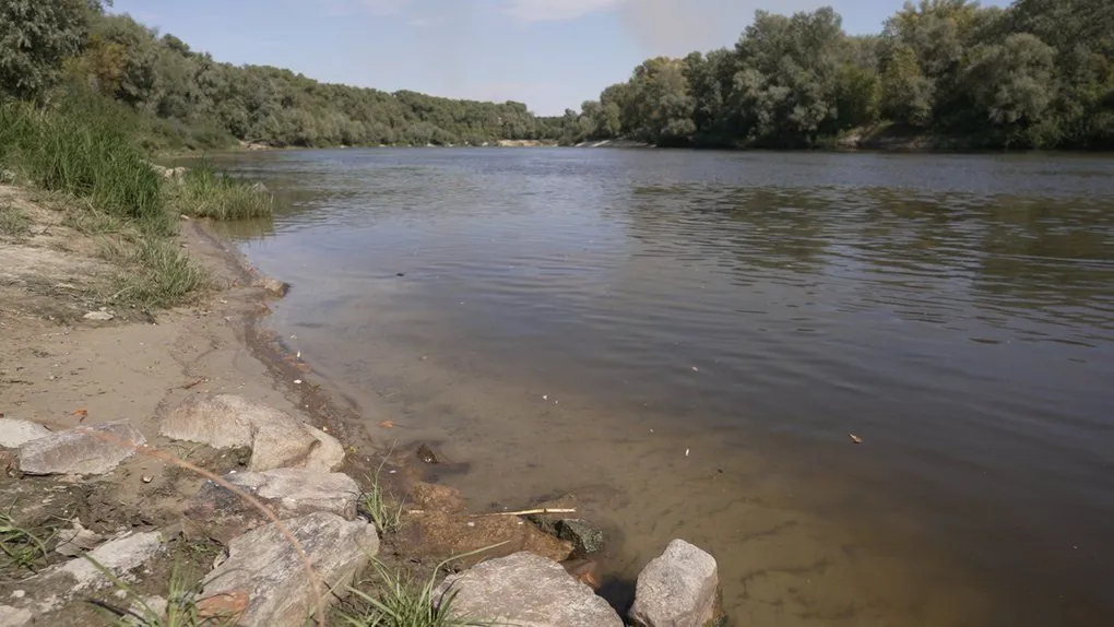
<instances>
[{"instance_id":1,"label":"low green grass clump jutting into the water beside taller grass","mask_svg":"<svg viewBox=\"0 0 1114 627\"><path fill-rule=\"evenodd\" d=\"M169 206L177 214L213 219L270 216L274 197L256 186L218 174L208 165L186 173L179 182L167 182Z\"/></svg>"}]
</instances>

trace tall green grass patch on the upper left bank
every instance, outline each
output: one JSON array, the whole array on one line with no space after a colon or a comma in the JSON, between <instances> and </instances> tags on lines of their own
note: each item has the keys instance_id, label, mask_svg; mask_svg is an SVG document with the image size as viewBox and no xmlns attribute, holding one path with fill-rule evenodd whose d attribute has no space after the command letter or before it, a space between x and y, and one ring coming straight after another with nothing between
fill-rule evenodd
<instances>
[{"instance_id":1,"label":"tall green grass patch on the upper left bank","mask_svg":"<svg viewBox=\"0 0 1114 627\"><path fill-rule=\"evenodd\" d=\"M25 104L0 106L0 159L38 187L87 199L147 231L173 232L163 180L110 121Z\"/></svg>"}]
</instances>

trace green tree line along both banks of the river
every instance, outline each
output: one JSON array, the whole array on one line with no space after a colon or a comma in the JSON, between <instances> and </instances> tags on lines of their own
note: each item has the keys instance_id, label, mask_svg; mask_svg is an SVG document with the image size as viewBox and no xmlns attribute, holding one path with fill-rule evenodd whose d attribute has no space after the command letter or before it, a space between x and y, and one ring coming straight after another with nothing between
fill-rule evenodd
<instances>
[{"instance_id":1,"label":"green tree line along both banks of the river","mask_svg":"<svg viewBox=\"0 0 1114 627\"><path fill-rule=\"evenodd\" d=\"M101 0L0 0L0 96L108 102L155 146L822 147L900 131L958 147L1114 147L1110 0L906 2L848 36L831 8L758 11L733 48L648 59L579 111L322 84L233 66Z\"/></svg>"}]
</instances>

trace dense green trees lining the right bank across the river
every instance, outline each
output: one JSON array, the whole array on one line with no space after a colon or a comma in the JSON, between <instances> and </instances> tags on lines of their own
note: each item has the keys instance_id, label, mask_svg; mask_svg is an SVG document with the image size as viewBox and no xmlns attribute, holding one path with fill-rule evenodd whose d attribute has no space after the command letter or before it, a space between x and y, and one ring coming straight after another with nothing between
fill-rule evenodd
<instances>
[{"instance_id":1,"label":"dense green trees lining the right bank across the river","mask_svg":"<svg viewBox=\"0 0 1114 627\"><path fill-rule=\"evenodd\" d=\"M895 123L973 148L1112 148L1112 53L1111 0L920 0L866 37L831 8L758 11L734 48L643 62L567 139L800 147Z\"/></svg>"}]
</instances>

